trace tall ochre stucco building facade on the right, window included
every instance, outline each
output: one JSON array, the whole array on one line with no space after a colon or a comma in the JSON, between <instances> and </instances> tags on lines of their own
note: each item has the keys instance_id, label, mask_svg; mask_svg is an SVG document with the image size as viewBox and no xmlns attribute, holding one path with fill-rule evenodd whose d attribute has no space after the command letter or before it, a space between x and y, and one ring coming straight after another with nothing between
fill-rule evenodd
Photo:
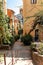
<instances>
[{"instance_id":1,"label":"tall ochre stucco building facade on the right, window included","mask_svg":"<svg viewBox=\"0 0 43 65\"><path fill-rule=\"evenodd\" d=\"M34 16L39 11L43 10L43 0L23 0L23 17L24 17L24 33L27 33L30 31L33 25ZM26 17L30 17L26 19ZM43 40L43 26L36 26L37 29L39 29L39 38ZM35 36L35 30L31 32L31 35Z\"/></svg>"}]
</instances>

